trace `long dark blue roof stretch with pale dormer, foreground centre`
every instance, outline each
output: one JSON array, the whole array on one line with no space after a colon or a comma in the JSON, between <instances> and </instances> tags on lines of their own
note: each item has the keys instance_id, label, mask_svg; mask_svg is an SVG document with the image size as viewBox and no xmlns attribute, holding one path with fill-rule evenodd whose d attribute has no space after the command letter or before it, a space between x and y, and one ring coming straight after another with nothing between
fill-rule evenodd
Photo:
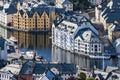
<instances>
[{"instance_id":1,"label":"long dark blue roof stretch with pale dormer, foreground centre","mask_svg":"<svg viewBox=\"0 0 120 80\"><path fill-rule=\"evenodd\" d=\"M45 70L49 68L56 68L58 71L60 71L61 74L75 74L76 73L76 65L74 64L42 64L42 63L36 63L36 66L34 68L35 74L42 74L45 72Z\"/></svg>"}]
</instances>

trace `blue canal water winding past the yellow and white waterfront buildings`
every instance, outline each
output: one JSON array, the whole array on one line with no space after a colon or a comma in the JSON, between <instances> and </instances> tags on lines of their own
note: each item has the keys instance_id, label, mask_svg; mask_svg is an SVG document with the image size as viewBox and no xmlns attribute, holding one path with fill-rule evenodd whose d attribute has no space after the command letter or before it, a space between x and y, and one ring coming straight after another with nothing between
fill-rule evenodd
<instances>
[{"instance_id":1,"label":"blue canal water winding past the yellow and white waterfront buildings","mask_svg":"<svg viewBox=\"0 0 120 80\"><path fill-rule=\"evenodd\" d=\"M47 61L59 63L75 63L81 68L92 69L93 66L99 69L105 66L116 66L115 60L92 59L76 53L63 50L51 44L51 34L45 32L22 32L8 30L0 27L0 35L5 38L14 36L18 40L18 47L21 52L36 50L38 56L42 56Z\"/></svg>"}]
</instances>

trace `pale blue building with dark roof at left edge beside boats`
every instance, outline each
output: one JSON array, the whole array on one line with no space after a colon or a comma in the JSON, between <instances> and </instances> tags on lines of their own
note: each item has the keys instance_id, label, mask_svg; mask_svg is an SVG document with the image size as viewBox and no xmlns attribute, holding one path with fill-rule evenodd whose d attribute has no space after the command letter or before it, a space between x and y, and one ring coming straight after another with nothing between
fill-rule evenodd
<instances>
[{"instance_id":1,"label":"pale blue building with dark roof at left edge beside boats","mask_svg":"<svg viewBox=\"0 0 120 80\"><path fill-rule=\"evenodd\" d=\"M0 60L7 60L7 41L0 37Z\"/></svg>"}]
</instances>

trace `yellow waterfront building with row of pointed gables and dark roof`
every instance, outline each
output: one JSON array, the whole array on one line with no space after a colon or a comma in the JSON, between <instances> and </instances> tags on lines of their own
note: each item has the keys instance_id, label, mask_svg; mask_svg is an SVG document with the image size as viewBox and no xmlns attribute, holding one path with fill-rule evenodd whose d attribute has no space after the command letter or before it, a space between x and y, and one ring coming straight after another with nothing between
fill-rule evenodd
<instances>
[{"instance_id":1,"label":"yellow waterfront building with row of pointed gables and dark roof","mask_svg":"<svg viewBox=\"0 0 120 80\"><path fill-rule=\"evenodd\" d=\"M15 29L47 31L51 29L52 22L56 18L53 7L40 5L28 10L19 8L12 17L12 24Z\"/></svg>"}]
</instances>

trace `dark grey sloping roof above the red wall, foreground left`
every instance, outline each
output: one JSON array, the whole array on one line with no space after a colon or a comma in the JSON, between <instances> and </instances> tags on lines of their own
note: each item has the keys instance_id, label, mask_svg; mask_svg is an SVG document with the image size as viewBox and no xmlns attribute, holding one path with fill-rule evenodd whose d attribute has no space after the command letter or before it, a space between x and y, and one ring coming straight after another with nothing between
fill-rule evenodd
<instances>
[{"instance_id":1,"label":"dark grey sloping roof above the red wall, foreground left","mask_svg":"<svg viewBox=\"0 0 120 80\"><path fill-rule=\"evenodd\" d=\"M32 74L35 63L33 61L29 61L23 64L19 74Z\"/></svg>"}]
</instances>

